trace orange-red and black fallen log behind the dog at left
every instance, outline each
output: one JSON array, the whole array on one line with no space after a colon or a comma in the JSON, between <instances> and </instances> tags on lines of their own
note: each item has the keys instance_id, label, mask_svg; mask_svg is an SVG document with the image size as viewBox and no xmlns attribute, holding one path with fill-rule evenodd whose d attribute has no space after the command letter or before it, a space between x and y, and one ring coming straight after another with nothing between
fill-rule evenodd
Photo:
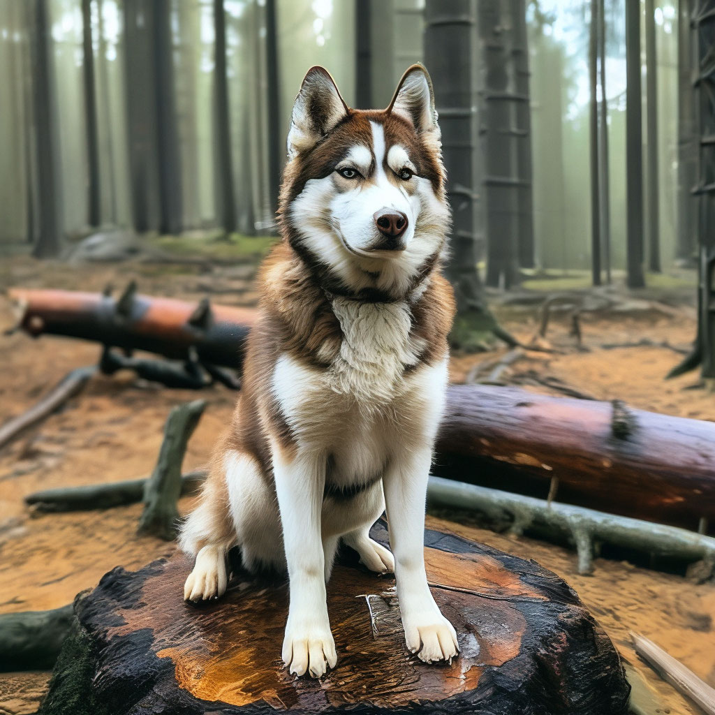
<instances>
[{"instance_id":1,"label":"orange-red and black fallen log behind the dog at left","mask_svg":"<svg viewBox=\"0 0 715 715\"><path fill-rule=\"evenodd\" d=\"M11 288L17 327L29 335L64 335L165 358L240 366L255 320L249 308L139 295L129 284L116 300L102 293Z\"/></svg>"}]
</instances>

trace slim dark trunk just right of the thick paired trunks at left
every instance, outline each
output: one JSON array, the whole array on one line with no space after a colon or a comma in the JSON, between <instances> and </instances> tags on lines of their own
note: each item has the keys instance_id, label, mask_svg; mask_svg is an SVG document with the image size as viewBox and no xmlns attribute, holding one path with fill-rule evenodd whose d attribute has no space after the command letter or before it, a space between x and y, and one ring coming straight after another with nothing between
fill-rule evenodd
<instances>
[{"instance_id":1,"label":"slim dark trunk just right of the thick paired trunks at left","mask_svg":"<svg viewBox=\"0 0 715 715\"><path fill-rule=\"evenodd\" d=\"M214 0L215 154L217 167L216 217L227 233L236 230L233 151L226 74L226 13L224 0Z\"/></svg>"}]
</instances>

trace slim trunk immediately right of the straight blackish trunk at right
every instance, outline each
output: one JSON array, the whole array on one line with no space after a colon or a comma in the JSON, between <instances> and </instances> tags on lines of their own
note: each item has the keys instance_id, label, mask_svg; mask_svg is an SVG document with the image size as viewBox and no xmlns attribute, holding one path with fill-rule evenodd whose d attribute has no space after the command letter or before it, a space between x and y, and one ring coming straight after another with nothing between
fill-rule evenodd
<instances>
[{"instance_id":1,"label":"slim trunk immediately right of the straight blackish trunk at right","mask_svg":"<svg viewBox=\"0 0 715 715\"><path fill-rule=\"evenodd\" d=\"M648 266L661 271L661 222L659 217L658 175L658 57L656 55L656 18L654 0L646 0L646 137L648 179L646 202L648 215Z\"/></svg>"}]
</instances>

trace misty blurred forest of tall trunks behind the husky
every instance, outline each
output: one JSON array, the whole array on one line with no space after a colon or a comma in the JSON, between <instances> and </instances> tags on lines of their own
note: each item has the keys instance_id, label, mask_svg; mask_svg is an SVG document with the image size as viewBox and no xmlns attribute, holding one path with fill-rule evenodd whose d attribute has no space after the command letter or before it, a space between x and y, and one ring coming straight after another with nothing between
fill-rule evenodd
<instances>
[{"instance_id":1,"label":"misty blurred forest of tall trunks behind the husky","mask_svg":"<svg viewBox=\"0 0 715 715\"><path fill-rule=\"evenodd\" d=\"M0 0L0 252L59 255L107 227L270 235L307 68L330 69L348 104L384 107L425 61L455 240L488 285L533 270L599 283L626 269L631 240L637 287L644 267L695 265L698 4Z\"/></svg>"}]
</instances>

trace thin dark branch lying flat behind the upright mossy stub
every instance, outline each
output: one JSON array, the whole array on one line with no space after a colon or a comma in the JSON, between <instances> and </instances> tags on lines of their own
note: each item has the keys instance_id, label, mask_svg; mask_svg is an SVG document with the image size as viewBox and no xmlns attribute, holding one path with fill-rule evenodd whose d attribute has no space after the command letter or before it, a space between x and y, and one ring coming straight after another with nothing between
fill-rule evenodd
<instances>
[{"instance_id":1,"label":"thin dark branch lying flat behind the upright mossy stub","mask_svg":"<svg viewBox=\"0 0 715 715\"><path fill-rule=\"evenodd\" d=\"M197 490L206 478L206 470L197 469L182 475L181 495ZM144 499L148 478L82 487L45 489L25 497L33 512L92 511L135 504Z\"/></svg>"}]
</instances>

